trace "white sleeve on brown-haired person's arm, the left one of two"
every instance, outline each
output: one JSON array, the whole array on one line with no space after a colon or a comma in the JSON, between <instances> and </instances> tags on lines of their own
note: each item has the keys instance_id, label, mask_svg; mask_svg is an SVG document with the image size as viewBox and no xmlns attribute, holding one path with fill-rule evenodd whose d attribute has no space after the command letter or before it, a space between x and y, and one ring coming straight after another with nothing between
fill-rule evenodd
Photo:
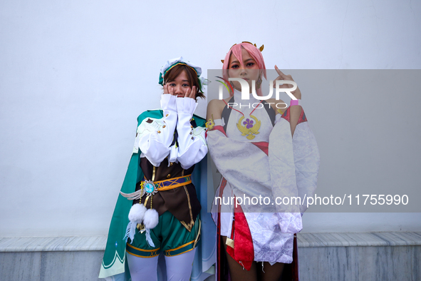
<instances>
[{"instance_id":1,"label":"white sleeve on brown-haired person's arm, the left one of two","mask_svg":"<svg viewBox=\"0 0 421 281\"><path fill-rule=\"evenodd\" d=\"M161 119L145 118L137 127L138 147L155 167L170 153L170 145L177 126L177 98L170 94L161 96L164 116Z\"/></svg>"}]
</instances>

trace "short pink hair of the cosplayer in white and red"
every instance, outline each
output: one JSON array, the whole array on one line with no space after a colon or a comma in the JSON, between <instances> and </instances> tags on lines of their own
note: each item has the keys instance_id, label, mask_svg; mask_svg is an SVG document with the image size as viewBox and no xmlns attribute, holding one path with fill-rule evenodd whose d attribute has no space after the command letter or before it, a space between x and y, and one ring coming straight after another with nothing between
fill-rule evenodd
<instances>
[{"instance_id":1,"label":"short pink hair of the cosplayer in white and red","mask_svg":"<svg viewBox=\"0 0 421 281\"><path fill-rule=\"evenodd\" d=\"M231 47L231 49L227 53L227 56L225 56L224 65L222 66L222 76L224 77L224 79L228 80L229 58L231 58L231 55L234 55L241 63L241 66L245 67L243 65L241 48L244 48L250 54L250 56L254 59L254 61L256 61L257 66L259 66L259 69L263 70L262 72L263 72L264 78L267 79L266 66L264 65L264 59L263 59L263 56L261 56L261 51L259 50L259 48L256 48L254 45L251 45L249 43L240 43ZM256 92L257 92L257 95L262 96L261 88L256 89ZM229 91L229 96L233 96L233 95L234 93L231 93L231 91Z\"/></svg>"}]
</instances>

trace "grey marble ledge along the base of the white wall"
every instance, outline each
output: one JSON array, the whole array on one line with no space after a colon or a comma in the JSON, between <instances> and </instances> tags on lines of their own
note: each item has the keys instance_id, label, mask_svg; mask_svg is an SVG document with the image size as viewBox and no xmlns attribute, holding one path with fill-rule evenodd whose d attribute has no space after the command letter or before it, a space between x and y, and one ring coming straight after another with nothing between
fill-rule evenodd
<instances>
[{"instance_id":1,"label":"grey marble ledge along the base of the white wall","mask_svg":"<svg viewBox=\"0 0 421 281\"><path fill-rule=\"evenodd\" d=\"M0 237L0 280L98 280L98 237ZM421 233L298 234L300 280L421 280Z\"/></svg>"}]
</instances>

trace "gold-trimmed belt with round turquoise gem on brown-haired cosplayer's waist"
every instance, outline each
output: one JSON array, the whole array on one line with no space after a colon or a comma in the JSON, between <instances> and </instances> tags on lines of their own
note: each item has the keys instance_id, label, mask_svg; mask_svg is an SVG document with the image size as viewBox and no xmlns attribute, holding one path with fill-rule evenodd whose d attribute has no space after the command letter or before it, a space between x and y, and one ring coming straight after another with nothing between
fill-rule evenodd
<instances>
[{"instance_id":1,"label":"gold-trimmed belt with round turquoise gem on brown-haired cosplayer's waist","mask_svg":"<svg viewBox=\"0 0 421 281\"><path fill-rule=\"evenodd\" d=\"M143 195L154 195L157 191L172 190L178 188L182 185L188 185L192 183L192 175L184 175L182 177L170 178L168 180L158 180L152 182L152 180L142 180L140 183L140 190L135 191L134 193L122 193L125 198L128 200L136 200L143 197ZM145 191L147 190L147 191Z\"/></svg>"}]
</instances>

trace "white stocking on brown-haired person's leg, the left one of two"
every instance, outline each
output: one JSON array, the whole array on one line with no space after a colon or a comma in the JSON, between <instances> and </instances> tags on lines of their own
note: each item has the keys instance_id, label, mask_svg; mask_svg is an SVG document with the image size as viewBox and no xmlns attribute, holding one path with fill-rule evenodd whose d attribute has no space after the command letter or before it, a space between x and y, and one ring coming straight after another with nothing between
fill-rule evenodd
<instances>
[{"instance_id":1,"label":"white stocking on brown-haired person's leg, the left one of two","mask_svg":"<svg viewBox=\"0 0 421 281\"><path fill-rule=\"evenodd\" d=\"M157 281L158 256L136 257L135 255L126 254L126 257L132 281Z\"/></svg>"}]
</instances>

